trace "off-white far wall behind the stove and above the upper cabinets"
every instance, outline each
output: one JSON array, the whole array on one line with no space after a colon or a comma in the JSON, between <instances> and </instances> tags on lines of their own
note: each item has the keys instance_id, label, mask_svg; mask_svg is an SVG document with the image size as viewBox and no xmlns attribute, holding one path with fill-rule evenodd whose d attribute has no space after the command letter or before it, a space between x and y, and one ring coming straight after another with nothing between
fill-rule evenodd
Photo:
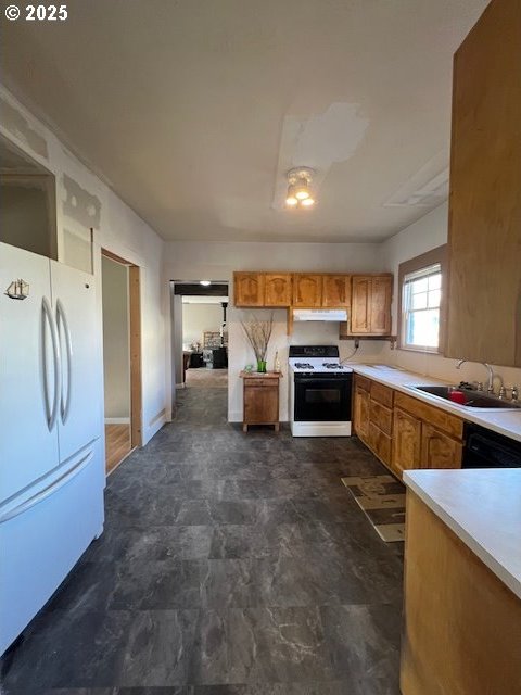
<instances>
[{"instance_id":1,"label":"off-white far wall behind the stove and above the upper cabinets","mask_svg":"<svg viewBox=\"0 0 521 695\"><path fill-rule=\"evenodd\" d=\"M233 270L316 270L339 273L378 273L383 269L379 244L374 243L271 243L271 242L191 242L165 244L165 274L168 280L199 280L229 282L228 308L228 419L242 420L242 381L239 372L254 363L253 351L244 337L241 320L251 311L233 306ZM259 318L269 309L253 312ZM280 384L280 417L288 419L288 346L290 344L339 344L341 356L353 350L352 341L339 341L338 324L300 324L293 334L287 334L285 311L274 312L275 326L268 350L268 367L279 351L283 378ZM356 358L360 362L382 362L384 343L361 341Z\"/></svg>"}]
</instances>

